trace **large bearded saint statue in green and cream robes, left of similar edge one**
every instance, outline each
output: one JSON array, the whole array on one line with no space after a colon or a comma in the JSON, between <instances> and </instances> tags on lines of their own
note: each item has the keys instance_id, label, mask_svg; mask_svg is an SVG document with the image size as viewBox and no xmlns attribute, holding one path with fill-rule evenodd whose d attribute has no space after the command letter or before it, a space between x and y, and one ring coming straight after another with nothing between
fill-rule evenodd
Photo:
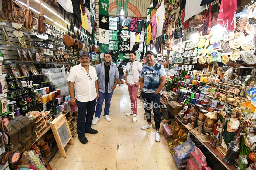
<instances>
[{"instance_id":1,"label":"large bearded saint statue in green and cream robes, left of similar edge one","mask_svg":"<svg viewBox=\"0 0 256 170\"><path fill-rule=\"evenodd\" d=\"M226 145L223 146L224 148L227 148L228 144L233 140L236 134L236 131L240 124L240 122L238 121L240 113L242 113L240 108L232 109L231 118L229 120L223 119L223 121L225 121L225 125L223 126L222 137Z\"/></svg>"}]
</instances>

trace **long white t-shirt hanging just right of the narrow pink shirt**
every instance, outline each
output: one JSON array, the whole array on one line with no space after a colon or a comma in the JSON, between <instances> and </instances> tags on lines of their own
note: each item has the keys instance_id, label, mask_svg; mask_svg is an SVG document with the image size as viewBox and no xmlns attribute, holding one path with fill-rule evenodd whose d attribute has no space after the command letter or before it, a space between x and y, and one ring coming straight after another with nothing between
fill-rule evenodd
<instances>
[{"instance_id":1,"label":"long white t-shirt hanging just right of the narrow pink shirt","mask_svg":"<svg viewBox=\"0 0 256 170\"><path fill-rule=\"evenodd\" d=\"M156 35L156 37L160 37L163 34L164 15L165 15L165 5L162 4L157 9L157 12L156 12L156 21L157 21L157 35Z\"/></svg>"}]
</instances>

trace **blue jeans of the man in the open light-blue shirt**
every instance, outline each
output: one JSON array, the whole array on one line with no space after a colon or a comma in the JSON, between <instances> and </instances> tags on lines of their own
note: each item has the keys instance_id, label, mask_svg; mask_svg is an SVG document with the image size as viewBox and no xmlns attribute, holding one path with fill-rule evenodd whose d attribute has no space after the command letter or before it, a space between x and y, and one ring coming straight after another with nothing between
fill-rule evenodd
<instances>
[{"instance_id":1,"label":"blue jeans of the man in the open light-blue shirt","mask_svg":"<svg viewBox=\"0 0 256 170\"><path fill-rule=\"evenodd\" d=\"M95 111L95 117L99 118L102 111L102 105L103 101L105 99L105 108L104 108L104 115L106 116L109 114L109 108L110 108L110 101L113 95L113 91L111 93L108 93L108 87L105 88L105 92L102 93L99 91L99 98L97 100L97 107Z\"/></svg>"}]
</instances>

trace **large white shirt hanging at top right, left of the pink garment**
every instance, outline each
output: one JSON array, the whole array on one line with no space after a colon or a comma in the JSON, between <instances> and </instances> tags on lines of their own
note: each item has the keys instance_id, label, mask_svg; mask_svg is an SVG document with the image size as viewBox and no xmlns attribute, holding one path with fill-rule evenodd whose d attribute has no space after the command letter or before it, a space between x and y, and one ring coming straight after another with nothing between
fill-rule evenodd
<instances>
[{"instance_id":1,"label":"large white shirt hanging at top right, left of the pink garment","mask_svg":"<svg viewBox=\"0 0 256 170\"><path fill-rule=\"evenodd\" d=\"M201 2L202 0L186 1L184 22L187 21L190 17L207 9L207 5L200 6Z\"/></svg>"}]
</instances>

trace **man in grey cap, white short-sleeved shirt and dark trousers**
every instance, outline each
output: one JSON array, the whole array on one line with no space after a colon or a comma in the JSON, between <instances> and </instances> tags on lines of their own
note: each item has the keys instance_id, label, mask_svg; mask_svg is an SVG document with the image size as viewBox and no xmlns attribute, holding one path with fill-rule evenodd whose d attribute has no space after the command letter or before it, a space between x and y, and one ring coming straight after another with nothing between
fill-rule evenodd
<instances>
[{"instance_id":1,"label":"man in grey cap, white short-sleeved shirt and dark trousers","mask_svg":"<svg viewBox=\"0 0 256 170\"><path fill-rule=\"evenodd\" d=\"M79 65L71 67L67 80L69 81L70 103L71 105L77 104L78 107L78 139L85 144L88 142L85 133L98 133L97 130L91 128L96 99L99 98L98 76L95 68L89 65L90 55L87 51L79 53L79 60Z\"/></svg>"}]
</instances>

